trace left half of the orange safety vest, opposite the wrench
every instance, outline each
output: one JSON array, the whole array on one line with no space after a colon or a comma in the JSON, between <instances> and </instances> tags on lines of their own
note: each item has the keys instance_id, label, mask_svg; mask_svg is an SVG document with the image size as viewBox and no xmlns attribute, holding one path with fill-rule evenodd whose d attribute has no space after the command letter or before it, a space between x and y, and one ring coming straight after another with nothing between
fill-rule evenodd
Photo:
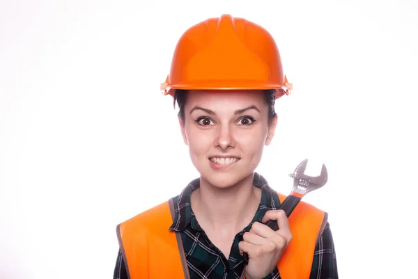
<instances>
[{"instance_id":1,"label":"left half of the orange safety vest, opposite the wrench","mask_svg":"<svg viewBox=\"0 0 418 279\"><path fill-rule=\"evenodd\" d=\"M189 278L180 234L169 231L173 210L170 199L117 226L130 279Z\"/></svg>"}]
</instances>

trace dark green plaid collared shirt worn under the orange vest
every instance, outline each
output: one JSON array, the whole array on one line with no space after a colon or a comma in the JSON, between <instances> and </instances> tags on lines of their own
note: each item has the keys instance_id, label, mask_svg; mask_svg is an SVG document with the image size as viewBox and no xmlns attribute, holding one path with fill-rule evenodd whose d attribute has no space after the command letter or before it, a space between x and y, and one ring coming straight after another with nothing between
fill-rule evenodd
<instances>
[{"instance_id":1,"label":"dark green plaid collared shirt worn under the orange vest","mask_svg":"<svg viewBox=\"0 0 418 279\"><path fill-rule=\"evenodd\" d=\"M261 222L266 211L277 209L280 205L277 192L268 186L263 176L255 173L253 184L262 190L261 202L251 223L235 236L229 259L226 259L224 254L208 239L208 236L206 236L197 222L192 207L190 206L190 195L194 190L199 188L199 179L190 182L180 195L173 197L176 209L173 225L169 229L180 232L190 278L241 278L245 264L242 261L238 243L242 241L242 234L248 232L254 222ZM279 278L280 274L276 266L264 279ZM334 241L329 223L327 223L323 234L316 244L311 276L309 278L338 278ZM114 279L128 279L120 250L116 259Z\"/></svg>"}]
</instances>

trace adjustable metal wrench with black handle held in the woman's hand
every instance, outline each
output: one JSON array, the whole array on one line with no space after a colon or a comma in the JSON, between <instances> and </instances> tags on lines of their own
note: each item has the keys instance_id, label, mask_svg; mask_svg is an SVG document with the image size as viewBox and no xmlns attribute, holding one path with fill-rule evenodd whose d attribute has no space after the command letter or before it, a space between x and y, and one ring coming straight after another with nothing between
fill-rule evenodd
<instances>
[{"instance_id":1,"label":"adjustable metal wrench with black handle held in the woman's hand","mask_svg":"<svg viewBox=\"0 0 418 279\"><path fill-rule=\"evenodd\" d=\"M286 216L289 217L293 212L293 209L299 204L300 199L307 195L307 193L312 192L318 188L321 188L328 181L328 172L327 168L323 164L319 176L308 176L304 174L304 171L307 169L308 159L305 159L300 163L295 172L289 174L293 178L293 188L291 194L284 199L280 204L278 209L284 210ZM268 225L274 231L279 229L277 225L277 220L269 220L265 225ZM244 263L248 264L248 254L244 253Z\"/></svg>"}]
</instances>

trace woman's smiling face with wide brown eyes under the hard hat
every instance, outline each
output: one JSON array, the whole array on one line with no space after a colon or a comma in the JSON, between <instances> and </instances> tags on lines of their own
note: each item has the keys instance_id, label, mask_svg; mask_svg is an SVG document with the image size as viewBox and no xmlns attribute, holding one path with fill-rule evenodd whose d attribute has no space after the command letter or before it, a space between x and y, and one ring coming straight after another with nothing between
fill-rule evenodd
<instances>
[{"instance_id":1,"label":"woman's smiling face with wide brown eyes under the hard hat","mask_svg":"<svg viewBox=\"0 0 418 279\"><path fill-rule=\"evenodd\" d=\"M277 119L268 125L261 91L189 91L181 130L203 179L228 188L258 166Z\"/></svg>"}]
</instances>

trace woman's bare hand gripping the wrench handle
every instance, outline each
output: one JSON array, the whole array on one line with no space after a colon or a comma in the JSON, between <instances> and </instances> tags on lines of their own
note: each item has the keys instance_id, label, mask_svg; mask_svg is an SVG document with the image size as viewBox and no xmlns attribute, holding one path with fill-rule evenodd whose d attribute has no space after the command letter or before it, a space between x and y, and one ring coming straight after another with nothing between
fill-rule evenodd
<instances>
[{"instance_id":1,"label":"woman's bare hand gripping the wrench handle","mask_svg":"<svg viewBox=\"0 0 418 279\"><path fill-rule=\"evenodd\" d=\"M279 229L274 231L266 223L277 220ZM248 265L245 267L247 279L261 279L268 276L279 262L281 255L292 240L288 218L283 210L270 210L265 213L262 223L254 223L243 235L238 244L241 255L248 253Z\"/></svg>"}]
</instances>

